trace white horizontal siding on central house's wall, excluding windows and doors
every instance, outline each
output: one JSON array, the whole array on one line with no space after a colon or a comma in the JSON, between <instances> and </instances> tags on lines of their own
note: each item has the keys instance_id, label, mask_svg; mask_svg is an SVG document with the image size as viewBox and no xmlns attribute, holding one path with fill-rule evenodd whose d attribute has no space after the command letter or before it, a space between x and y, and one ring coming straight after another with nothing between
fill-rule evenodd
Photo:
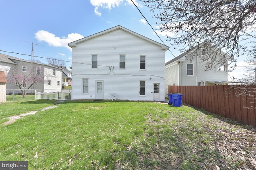
<instances>
[{"instance_id":1,"label":"white horizontal siding on central house's wall, excluding windows and doors","mask_svg":"<svg viewBox=\"0 0 256 170\"><path fill-rule=\"evenodd\" d=\"M90 65L78 64L91 64L92 54L98 55L98 69L91 69ZM120 55L125 55L125 69L119 69ZM139 71L141 55L146 56L146 70L143 71ZM110 99L111 94L115 94L116 99L120 100L152 101L153 83L160 83L160 101L164 101L165 50L122 29L78 43L72 48L72 61L74 62L72 63L73 100L95 99L96 80L103 80L105 100ZM114 66L114 70L110 72L108 67L99 65ZM85 77L82 74L86 74L86 78L89 78L88 94L82 92L81 80ZM144 96L139 95L140 80L146 81Z\"/></svg>"}]
</instances>

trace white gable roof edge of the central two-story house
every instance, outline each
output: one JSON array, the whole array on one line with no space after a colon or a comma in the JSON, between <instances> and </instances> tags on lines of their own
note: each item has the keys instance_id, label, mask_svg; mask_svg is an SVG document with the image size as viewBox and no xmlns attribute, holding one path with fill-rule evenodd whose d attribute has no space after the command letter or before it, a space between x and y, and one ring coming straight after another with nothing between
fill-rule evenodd
<instances>
[{"instance_id":1,"label":"white gable roof edge of the central two-story house","mask_svg":"<svg viewBox=\"0 0 256 170\"><path fill-rule=\"evenodd\" d=\"M164 44L158 43L158 42L156 42L156 41L154 41L154 40L152 40L152 39L149 39L148 37L145 37L145 36L143 36L143 35L140 35L140 34L134 32L134 31L131 31L130 29L125 28L125 27L122 27L121 25L117 25L117 26L115 26L115 27L106 29L106 30L104 30L104 31L101 31L101 32L98 32L98 33L89 35L88 37L84 37L84 38L82 38L82 39L78 39L78 40L76 40L76 41L73 41L73 42L71 42L71 43L68 43L68 46L71 47L71 48L72 48L72 47L76 47L76 44L78 44L78 43L81 43L81 42L83 42L83 41L87 41L87 40L89 40L89 39L92 39L92 38L94 38L94 37L98 37L98 36L100 36L100 35L104 35L104 34L106 34L106 33L109 33L109 32L111 32L111 31L114 31L114 30L117 30L117 29L122 29L122 30L124 30L124 31L126 31L126 32L128 32L128 33L130 33L130 34L132 34L132 35L135 35L136 37L139 37L139 38L141 38L141 39L144 39L145 41L148 41L148 42L150 42L150 43L153 43L153 44L155 44L155 45L158 45L158 46L162 47L162 49L168 50L168 48L169 48L168 46L166 46L166 45L164 45Z\"/></svg>"}]
</instances>

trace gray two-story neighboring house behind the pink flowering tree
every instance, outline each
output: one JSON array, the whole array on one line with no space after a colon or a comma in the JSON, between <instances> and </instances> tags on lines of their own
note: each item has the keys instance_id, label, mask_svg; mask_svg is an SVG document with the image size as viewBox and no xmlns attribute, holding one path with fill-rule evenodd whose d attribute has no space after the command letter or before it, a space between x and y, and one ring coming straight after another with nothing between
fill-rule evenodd
<instances>
[{"instance_id":1,"label":"gray two-story neighboring house behind the pink flowering tree","mask_svg":"<svg viewBox=\"0 0 256 170\"><path fill-rule=\"evenodd\" d=\"M6 89L18 89L16 85L10 84L10 78L13 77L12 73L14 72L16 75L29 75L33 72L34 74L40 74L40 76L44 77L44 81L34 84L30 89L49 89L48 91L51 91L62 88L62 68L50 66L48 64L31 62L17 57L0 54L0 71L3 71L6 75ZM28 86L29 84L25 83L22 88L26 89Z\"/></svg>"}]
</instances>

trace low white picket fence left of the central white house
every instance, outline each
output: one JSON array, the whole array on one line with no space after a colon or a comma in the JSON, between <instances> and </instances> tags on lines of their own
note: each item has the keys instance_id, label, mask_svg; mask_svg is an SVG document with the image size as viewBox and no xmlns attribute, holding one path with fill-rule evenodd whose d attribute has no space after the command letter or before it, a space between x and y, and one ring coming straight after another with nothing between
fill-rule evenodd
<instances>
[{"instance_id":1,"label":"low white picket fence left of the central white house","mask_svg":"<svg viewBox=\"0 0 256 170\"><path fill-rule=\"evenodd\" d=\"M35 100L71 100L70 92L37 92L35 90Z\"/></svg>"}]
</instances>

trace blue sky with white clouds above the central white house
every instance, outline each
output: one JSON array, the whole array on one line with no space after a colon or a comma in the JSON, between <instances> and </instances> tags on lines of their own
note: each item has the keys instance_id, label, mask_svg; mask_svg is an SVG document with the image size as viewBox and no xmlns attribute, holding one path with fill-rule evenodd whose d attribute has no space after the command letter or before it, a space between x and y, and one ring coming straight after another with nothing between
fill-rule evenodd
<instances>
[{"instance_id":1,"label":"blue sky with white clouds above the central white house","mask_svg":"<svg viewBox=\"0 0 256 170\"><path fill-rule=\"evenodd\" d=\"M152 18L149 8L142 2L136 1L136 4L151 25L156 26L157 20ZM30 55L32 45L21 41L24 40L44 46L34 47L37 56L72 61L67 43L116 25L122 25L161 43L130 0L0 0L0 6L0 50L4 51ZM165 40L165 33L158 33ZM169 42L165 43L169 45ZM170 50L175 56L180 54L174 47L170 47ZM21 55L4 54L30 59ZM166 61L172 58L174 57L167 51ZM35 59L46 63L44 59ZM71 63L67 63L67 66L70 65ZM236 72L241 72L241 69Z\"/></svg>"}]
</instances>

